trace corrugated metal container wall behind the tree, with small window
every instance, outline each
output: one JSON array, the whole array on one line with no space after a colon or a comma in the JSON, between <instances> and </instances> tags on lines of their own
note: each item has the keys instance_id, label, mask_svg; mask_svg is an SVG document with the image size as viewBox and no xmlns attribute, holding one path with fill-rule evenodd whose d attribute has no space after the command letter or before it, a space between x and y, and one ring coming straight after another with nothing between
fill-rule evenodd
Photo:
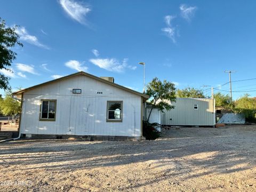
<instances>
[{"instance_id":1,"label":"corrugated metal container wall behind the tree, with small window","mask_svg":"<svg viewBox=\"0 0 256 192\"><path fill-rule=\"evenodd\" d=\"M171 103L171 102L170 102ZM215 103L213 99L177 98L171 103L174 109L164 111L161 115L162 125L215 125ZM198 109L194 106L197 105Z\"/></svg>"}]
</instances>

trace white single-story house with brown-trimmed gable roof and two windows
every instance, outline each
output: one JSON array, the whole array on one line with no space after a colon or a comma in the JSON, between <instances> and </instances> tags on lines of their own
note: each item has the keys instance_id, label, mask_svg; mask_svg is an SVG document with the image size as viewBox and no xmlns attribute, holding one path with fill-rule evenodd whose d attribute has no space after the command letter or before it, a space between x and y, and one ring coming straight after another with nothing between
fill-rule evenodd
<instances>
[{"instance_id":1,"label":"white single-story house with brown-trimmed gable roof and two windows","mask_svg":"<svg viewBox=\"0 0 256 192\"><path fill-rule=\"evenodd\" d=\"M146 94L83 71L14 92L22 100L20 133L56 138L140 139Z\"/></svg>"}]
</instances>

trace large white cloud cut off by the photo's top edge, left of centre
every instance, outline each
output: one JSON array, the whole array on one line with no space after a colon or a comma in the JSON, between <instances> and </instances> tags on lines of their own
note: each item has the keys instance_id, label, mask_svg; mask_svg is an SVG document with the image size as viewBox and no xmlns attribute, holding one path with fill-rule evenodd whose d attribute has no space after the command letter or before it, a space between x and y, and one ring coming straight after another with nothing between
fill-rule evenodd
<instances>
[{"instance_id":1,"label":"large white cloud cut off by the photo's top edge, left of centre","mask_svg":"<svg viewBox=\"0 0 256 192\"><path fill-rule=\"evenodd\" d=\"M81 24L87 25L85 16L91 11L88 5L84 5L81 2L78 3L73 0L60 0L60 5L69 17Z\"/></svg>"}]
</instances>

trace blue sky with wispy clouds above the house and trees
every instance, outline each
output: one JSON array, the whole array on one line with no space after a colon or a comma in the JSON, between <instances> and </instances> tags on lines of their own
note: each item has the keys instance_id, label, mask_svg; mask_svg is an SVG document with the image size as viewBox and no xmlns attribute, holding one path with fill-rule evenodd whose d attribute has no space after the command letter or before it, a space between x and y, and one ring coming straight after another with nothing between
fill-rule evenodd
<instances>
[{"instance_id":1,"label":"blue sky with wispy clouds above the house and trees","mask_svg":"<svg viewBox=\"0 0 256 192\"><path fill-rule=\"evenodd\" d=\"M142 91L140 61L146 83L158 77L179 89L225 84L224 70L237 71L234 81L256 78L255 8L255 1L3 0L0 17L20 26L24 46L14 48L14 73L0 73L13 90L84 70ZM229 85L218 89L228 93ZM256 80L234 82L233 90L255 97Z\"/></svg>"}]
</instances>

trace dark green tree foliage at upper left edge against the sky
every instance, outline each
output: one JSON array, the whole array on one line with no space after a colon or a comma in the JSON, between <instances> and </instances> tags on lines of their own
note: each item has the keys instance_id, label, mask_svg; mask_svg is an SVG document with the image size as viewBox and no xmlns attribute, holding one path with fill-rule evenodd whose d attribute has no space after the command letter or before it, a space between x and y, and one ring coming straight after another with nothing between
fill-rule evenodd
<instances>
[{"instance_id":1,"label":"dark green tree foliage at upper left edge against the sky","mask_svg":"<svg viewBox=\"0 0 256 192\"><path fill-rule=\"evenodd\" d=\"M11 50L15 45L23 46L18 41L19 35L15 32L15 27L6 27L5 21L0 18L0 69L11 71L10 67L17 53ZM0 73L0 89L10 89L9 77Z\"/></svg>"}]
</instances>

